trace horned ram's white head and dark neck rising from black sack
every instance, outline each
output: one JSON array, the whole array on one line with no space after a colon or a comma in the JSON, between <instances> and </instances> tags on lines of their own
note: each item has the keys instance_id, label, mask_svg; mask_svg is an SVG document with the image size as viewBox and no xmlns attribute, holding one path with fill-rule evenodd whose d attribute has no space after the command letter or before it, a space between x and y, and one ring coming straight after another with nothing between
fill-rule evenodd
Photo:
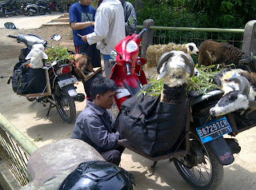
<instances>
[{"instance_id":1,"label":"horned ram's white head and dark neck rising from black sack","mask_svg":"<svg viewBox=\"0 0 256 190\"><path fill-rule=\"evenodd\" d=\"M186 101L186 72L194 75L194 61L182 51L170 51L160 57L157 65L158 79L163 77L160 101L181 103Z\"/></svg>"}]
</instances>

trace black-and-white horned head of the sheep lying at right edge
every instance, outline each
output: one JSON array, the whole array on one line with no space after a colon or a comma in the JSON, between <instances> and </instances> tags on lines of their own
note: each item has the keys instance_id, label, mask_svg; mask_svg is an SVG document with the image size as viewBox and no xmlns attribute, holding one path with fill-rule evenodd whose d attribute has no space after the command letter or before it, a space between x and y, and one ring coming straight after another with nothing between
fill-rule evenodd
<instances>
[{"instance_id":1,"label":"black-and-white horned head of the sheep lying at right edge","mask_svg":"<svg viewBox=\"0 0 256 190\"><path fill-rule=\"evenodd\" d=\"M238 90L234 89L228 93L225 93L218 103L210 109L210 115L214 117L225 115L242 109L243 111L248 109L250 101L248 94L250 91L250 82L246 77L235 76L226 79L226 81L235 81L238 83Z\"/></svg>"}]
</instances>

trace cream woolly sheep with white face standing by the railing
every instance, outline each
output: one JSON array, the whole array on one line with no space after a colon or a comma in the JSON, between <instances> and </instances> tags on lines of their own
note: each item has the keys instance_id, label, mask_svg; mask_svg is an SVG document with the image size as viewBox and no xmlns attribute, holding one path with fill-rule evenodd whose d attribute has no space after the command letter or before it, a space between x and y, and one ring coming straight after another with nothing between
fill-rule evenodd
<instances>
[{"instance_id":1,"label":"cream woolly sheep with white face standing by the railing","mask_svg":"<svg viewBox=\"0 0 256 190\"><path fill-rule=\"evenodd\" d=\"M157 65L159 58L163 53L170 52L172 50L183 51L184 53L196 54L198 55L198 47L193 43L187 44L174 44L174 42L170 42L169 44L158 44L154 46L149 46L146 49L146 69L152 68Z\"/></svg>"}]
</instances>

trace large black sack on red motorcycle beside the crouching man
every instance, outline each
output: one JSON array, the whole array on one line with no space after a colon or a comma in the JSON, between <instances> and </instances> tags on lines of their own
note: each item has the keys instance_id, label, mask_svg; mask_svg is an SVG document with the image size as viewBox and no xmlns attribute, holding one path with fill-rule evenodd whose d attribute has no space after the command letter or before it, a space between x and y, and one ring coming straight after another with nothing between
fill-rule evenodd
<instances>
[{"instance_id":1,"label":"large black sack on red motorcycle beside the crouching man","mask_svg":"<svg viewBox=\"0 0 256 190\"><path fill-rule=\"evenodd\" d=\"M168 104L160 102L160 96L137 96L138 93L122 103L114 128L146 155L174 151L174 145L185 133L189 101Z\"/></svg>"}]
</instances>

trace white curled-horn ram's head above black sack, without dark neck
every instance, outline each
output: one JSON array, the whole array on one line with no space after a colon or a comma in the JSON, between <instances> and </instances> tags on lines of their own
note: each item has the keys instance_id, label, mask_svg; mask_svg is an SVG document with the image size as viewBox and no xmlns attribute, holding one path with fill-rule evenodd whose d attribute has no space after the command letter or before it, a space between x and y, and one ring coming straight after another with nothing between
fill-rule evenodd
<instances>
[{"instance_id":1,"label":"white curled-horn ram's head above black sack, without dark neck","mask_svg":"<svg viewBox=\"0 0 256 190\"><path fill-rule=\"evenodd\" d=\"M189 54L182 51L170 51L162 54L157 65L158 79L165 77L169 86L186 83L186 72L194 75L194 61Z\"/></svg>"}]
</instances>

